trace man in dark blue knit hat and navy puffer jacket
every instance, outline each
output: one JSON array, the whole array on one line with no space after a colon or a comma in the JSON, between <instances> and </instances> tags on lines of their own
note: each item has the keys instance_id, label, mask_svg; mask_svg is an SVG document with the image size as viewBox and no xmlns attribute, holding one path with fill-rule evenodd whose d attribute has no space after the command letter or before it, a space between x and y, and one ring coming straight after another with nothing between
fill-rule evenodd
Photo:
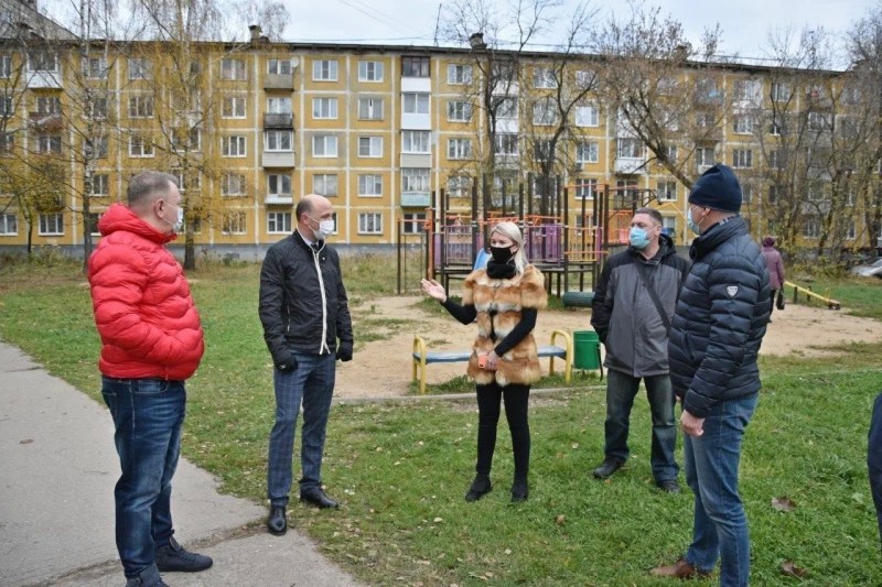
<instances>
[{"instance_id":1,"label":"man in dark blue knit hat and navy puffer jacket","mask_svg":"<svg viewBox=\"0 0 882 587\"><path fill-rule=\"evenodd\" d=\"M725 165L704 172L689 194L687 222L698 235L680 290L668 360L682 402L686 481L696 496L692 544L653 575L706 577L720 559L720 584L747 585L750 537L738 491L744 428L760 392L756 357L772 296L760 247L739 216L741 185Z\"/></svg>"}]
</instances>

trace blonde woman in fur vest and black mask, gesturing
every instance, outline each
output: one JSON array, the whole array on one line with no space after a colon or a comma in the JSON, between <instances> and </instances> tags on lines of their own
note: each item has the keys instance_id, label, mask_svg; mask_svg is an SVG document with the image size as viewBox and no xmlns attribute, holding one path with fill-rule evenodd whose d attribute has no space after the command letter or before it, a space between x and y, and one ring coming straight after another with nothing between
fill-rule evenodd
<instances>
[{"instance_id":1,"label":"blonde woman in fur vest and black mask, gesturing","mask_svg":"<svg viewBox=\"0 0 882 587\"><path fill-rule=\"evenodd\" d=\"M512 501L529 494L530 428L527 420L530 384L540 374L539 356L533 329L538 311L548 296L545 278L524 254L524 236L514 222L499 222L490 236L492 259L486 269L473 271L463 284L462 305L451 301L434 280L422 280L422 291L438 300L462 324L477 318L477 338L469 359L469 377L477 395L477 464L475 478L465 501L476 501L493 489L490 479L499 401L505 398L505 415L512 433L515 479Z\"/></svg>"}]
</instances>

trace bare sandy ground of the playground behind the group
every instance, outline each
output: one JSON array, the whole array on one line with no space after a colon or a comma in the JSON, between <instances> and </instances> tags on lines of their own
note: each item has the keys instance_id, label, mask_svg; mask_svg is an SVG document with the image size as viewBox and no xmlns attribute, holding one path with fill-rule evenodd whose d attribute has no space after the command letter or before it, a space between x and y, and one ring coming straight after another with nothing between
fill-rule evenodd
<instances>
[{"instance_id":1,"label":"bare sandy ground of the playground behind the group","mask_svg":"<svg viewBox=\"0 0 882 587\"><path fill-rule=\"evenodd\" d=\"M475 326L463 326L449 316L429 315L416 304L419 296L396 296L370 300L370 319L405 319L408 327L396 328L385 340L359 345L352 361L337 367L335 395L345 398L389 398L405 395L410 389L413 336L419 335L431 350L465 350L475 335ZM355 337L358 339L358 316L355 312ZM545 311L539 313L536 339L550 343L556 329L572 333L591 329L588 308ZM763 355L821 357L835 354L831 347L847 343L882 340L876 320L858 318L841 311L788 304L775 311L763 339ZM556 361L561 366L561 361ZM542 359L548 370L548 359ZM560 367L558 367L560 368ZM465 363L432 363L427 383L441 383L464 374Z\"/></svg>"}]
</instances>

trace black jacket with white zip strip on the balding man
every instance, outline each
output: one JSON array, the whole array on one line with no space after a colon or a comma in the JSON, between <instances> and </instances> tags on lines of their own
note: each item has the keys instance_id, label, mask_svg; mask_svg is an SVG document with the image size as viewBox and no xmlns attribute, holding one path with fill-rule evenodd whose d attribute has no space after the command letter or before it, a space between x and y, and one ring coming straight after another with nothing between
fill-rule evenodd
<instances>
[{"instance_id":1,"label":"black jacket with white zip strip on the balding man","mask_svg":"<svg viewBox=\"0 0 882 587\"><path fill-rule=\"evenodd\" d=\"M313 250L297 231L267 251L258 312L277 366L292 363L291 349L322 355L334 352L337 339L353 341L340 257L324 243Z\"/></svg>"}]
</instances>

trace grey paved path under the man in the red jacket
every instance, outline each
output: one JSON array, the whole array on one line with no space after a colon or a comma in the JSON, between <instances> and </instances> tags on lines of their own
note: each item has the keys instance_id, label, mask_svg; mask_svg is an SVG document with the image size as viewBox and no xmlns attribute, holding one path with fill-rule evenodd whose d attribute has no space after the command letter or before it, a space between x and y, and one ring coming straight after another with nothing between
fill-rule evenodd
<instances>
[{"instance_id":1,"label":"grey paved path under the man in the red jacket","mask_svg":"<svg viewBox=\"0 0 882 587\"><path fill-rule=\"evenodd\" d=\"M114 542L119 461L112 439L103 405L0 341L0 585L125 585ZM356 585L297 531L268 534L266 508L216 487L181 459L175 537L212 556L214 566L163 574L165 583Z\"/></svg>"}]
</instances>

